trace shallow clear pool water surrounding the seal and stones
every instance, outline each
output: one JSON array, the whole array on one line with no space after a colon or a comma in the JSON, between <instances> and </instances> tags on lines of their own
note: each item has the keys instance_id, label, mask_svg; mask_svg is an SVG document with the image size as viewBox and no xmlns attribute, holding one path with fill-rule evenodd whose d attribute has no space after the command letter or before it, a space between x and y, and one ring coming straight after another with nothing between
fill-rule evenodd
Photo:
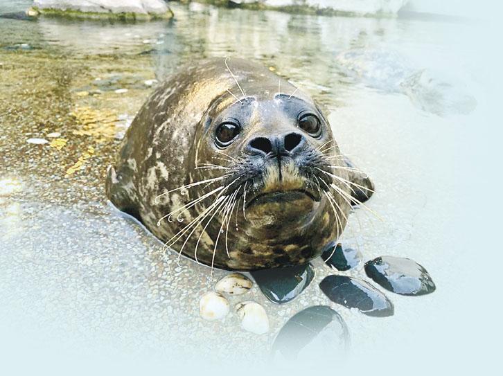
<instances>
[{"instance_id":1,"label":"shallow clear pool water surrounding the seal and stones","mask_svg":"<svg viewBox=\"0 0 503 376\"><path fill-rule=\"evenodd\" d=\"M0 12L28 5L1 1ZM259 367L285 321L303 307L328 304L351 332L351 367L368 363L364 368L378 373L408 365L409 374L489 367L483 359L495 348L482 345L495 336L494 303L484 304L495 294L496 274L488 270L495 245L487 234L496 233L491 215L498 211L488 200L497 192L489 116L497 63L481 52L487 25L172 6L174 20L139 24L0 19L0 346L12 366L30 368L29 356L34 364L71 368L123 357L172 370L187 367L186 359ZM439 116L336 59L362 48L393 51L405 70L455 82L455 98L467 94L475 107ZM269 334L242 331L236 313L223 323L199 318L200 296L225 273L211 281L207 267L162 258L152 235L107 204L104 176L152 90L145 81L210 56L262 62L326 108L342 150L373 177L369 206L382 218L358 210L344 238L358 242L366 260L391 255L421 263L434 294L389 293L394 316L369 318L329 303L317 284L330 269L315 260L315 280L294 301L273 305L256 286L246 296L265 306ZM98 126L83 124L86 118ZM52 132L61 134L60 150L26 142L52 141ZM364 271L360 265L348 274ZM231 298L231 306L241 300Z\"/></svg>"}]
</instances>

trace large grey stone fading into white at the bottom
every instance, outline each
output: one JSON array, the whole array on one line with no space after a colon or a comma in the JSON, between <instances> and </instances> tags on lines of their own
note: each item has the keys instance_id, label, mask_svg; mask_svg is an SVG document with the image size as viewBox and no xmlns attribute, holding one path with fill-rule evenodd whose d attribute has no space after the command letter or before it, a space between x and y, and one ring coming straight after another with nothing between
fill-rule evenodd
<instances>
[{"instance_id":1,"label":"large grey stone fading into white at the bottom","mask_svg":"<svg viewBox=\"0 0 503 376\"><path fill-rule=\"evenodd\" d=\"M327 305L315 305L298 312L283 325L272 355L295 359L299 352L328 353L331 359L343 355L349 346L349 332L342 317Z\"/></svg>"}]
</instances>

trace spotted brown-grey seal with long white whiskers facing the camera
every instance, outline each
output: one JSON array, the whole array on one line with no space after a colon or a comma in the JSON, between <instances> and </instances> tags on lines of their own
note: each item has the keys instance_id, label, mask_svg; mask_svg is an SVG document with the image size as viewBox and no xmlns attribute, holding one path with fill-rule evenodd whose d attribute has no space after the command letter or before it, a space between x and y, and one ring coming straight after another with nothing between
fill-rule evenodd
<instances>
[{"instance_id":1,"label":"spotted brown-grey seal with long white whiskers facing the camera","mask_svg":"<svg viewBox=\"0 0 503 376\"><path fill-rule=\"evenodd\" d=\"M160 84L106 181L110 201L166 248L243 271L319 256L371 188L310 96L234 59L199 62Z\"/></svg>"}]
</instances>

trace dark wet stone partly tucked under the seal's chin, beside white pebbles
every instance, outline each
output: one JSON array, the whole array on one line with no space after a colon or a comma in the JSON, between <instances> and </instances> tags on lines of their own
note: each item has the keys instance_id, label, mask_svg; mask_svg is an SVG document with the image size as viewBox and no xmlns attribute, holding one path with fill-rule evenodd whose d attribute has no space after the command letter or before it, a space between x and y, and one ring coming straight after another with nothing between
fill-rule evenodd
<instances>
[{"instance_id":1,"label":"dark wet stone partly tucked under the seal's chin, beside white pebbles","mask_svg":"<svg viewBox=\"0 0 503 376\"><path fill-rule=\"evenodd\" d=\"M308 287L315 276L315 269L308 263L297 267L252 271L251 276L272 303L286 303Z\"/></svg>"}]
</instances>

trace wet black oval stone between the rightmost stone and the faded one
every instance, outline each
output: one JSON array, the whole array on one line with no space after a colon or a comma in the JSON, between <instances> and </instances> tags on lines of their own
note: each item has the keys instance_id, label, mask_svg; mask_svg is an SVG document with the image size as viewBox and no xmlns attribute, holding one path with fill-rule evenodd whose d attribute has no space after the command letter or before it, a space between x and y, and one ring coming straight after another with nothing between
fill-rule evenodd
<instances>
[{"instance_id":1,"label":"wet black oval stone between the rightmost stone and the faded one","mask_svg":"<svg viewBox=\"0 0 503 376\"><path fill-rule=\"evenodd\" d=\"M385 294L364 280L347 276L328 276L319 283L321 291L334 303L358 308L369 316L391 316L393 304Z\"/></svg>"}]
</instances>

